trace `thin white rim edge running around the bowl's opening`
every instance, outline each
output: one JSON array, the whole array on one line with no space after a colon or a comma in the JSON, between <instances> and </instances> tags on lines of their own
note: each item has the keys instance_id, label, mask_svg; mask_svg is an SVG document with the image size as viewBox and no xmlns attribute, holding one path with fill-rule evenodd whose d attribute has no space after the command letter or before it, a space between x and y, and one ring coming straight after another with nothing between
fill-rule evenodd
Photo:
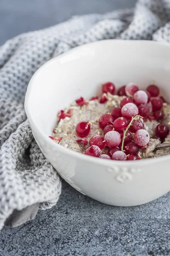
<instances>
[{"instance_id":1,"label":"thin white rim edge running around the bowl's opening","mask_svg":"<svg viewBox=\"0 0 170 256\"><path fill-rule=\"evenodd\" d=\"M165 156L161 156L161 157L153 157L153 158L146 158L146 159L142 159L142 161L116 161L116 160L112 160L110 162L110 160L107 159L101 159L99 157L91 157L85 154L81 154L77 151L71 150L69 148L65 148L62 145L59 145L58 143L54 142L53 140L51 140L50 137L47 137L47 135L37 127L36 122L34 122L34 120L31 117L31 113L29 112L29 106L28 106L28 99L30 98L30 93L32 88L34 87L34 79L36 78L36 76L41 72L41 70L43 70L46 66L48 66L51 62L53 61L59 61L59 59L62 59L63 57L65 57L66 55L72 55L74 54L74 52L78 52L81 51L83 49L86 49L88 47L91 47L91 45L97 45L97 44L103 44L103 43L108 43L108 42L119 42L119 43L124 43L124 44L144 44L144 45L152 45L152 44L157 44L157 46L164 46L164 47L169 47L170 45L167 44L166 42L158 42L158 41L150 41L150 40L122 40L122 39L106 39L106 40L101 40L101 41L95 41L92 43L88 43L88 44L83 44L77 47L74 47L73 49L70 49L68 52L62 53L59 56L56 56L54 58L51 58L50 60L46 61L44 64L42 64L42 66L40 68L37 69L37 71L34 73L34 75L31 77L29 83L28 83L28 87L26 90L26 96L25 96L25 102L24 102L24 107L25 107L25 111L26 111L26 115L28 120L30 120L36 130L38 131L38 133L45 139L45 141L49 144L49 145L54 145L54 147L56 147L57 150L62 151L63 154L65 155L69 155L69 156L73 156L76 158L79 158L79 160L86 160L88 162L91 163L96 163L96 164L100 164L102 166L109 166L111 167L111 165L113 165L113 167L116 166L122 166L122 167L130 167L130 166L144 166L146 164L152 164L152 163L159 163L160 161L164 161L164 160L170 160L170 155L165 155ZM33 134L34 135L34 134ZM113 164L111 164L113 163Z\"/></svg>"}]
</instances>

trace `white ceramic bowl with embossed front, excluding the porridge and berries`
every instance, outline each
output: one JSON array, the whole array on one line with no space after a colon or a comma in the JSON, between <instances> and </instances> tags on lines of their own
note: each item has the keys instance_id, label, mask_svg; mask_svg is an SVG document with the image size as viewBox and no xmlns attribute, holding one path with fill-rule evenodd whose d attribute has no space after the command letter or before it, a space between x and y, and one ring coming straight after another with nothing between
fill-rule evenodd
<instances>
[{"instance_id":1,"label":"white ceramic bowl with embossed front, excluding the porridge and berries","mask_svg":"<svg viewBox=\"0 0 170 256\"><path fill-rule=\"evenodd\" d=\"M152 81L170 98L170 47L153 41L105 40L72 49L45 63L32 77L25 109L47 160L75 189L105 204L145 204L170 191L170 156L140 161L90 157L58 145L48 136L59 110L96 94L100 84L116 87Z\"/></svg>"}]
</instances>

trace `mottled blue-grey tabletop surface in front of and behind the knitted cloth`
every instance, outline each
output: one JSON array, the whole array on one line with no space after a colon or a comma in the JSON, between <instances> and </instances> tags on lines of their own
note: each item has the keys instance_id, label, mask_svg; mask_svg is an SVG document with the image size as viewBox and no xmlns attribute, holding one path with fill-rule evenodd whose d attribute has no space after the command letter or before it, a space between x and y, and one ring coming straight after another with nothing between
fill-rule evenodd
<instances>
[{"instance_id":1,"label":"mottled blue-grey tabletop surface in front of and behind the knitted cloth","mask_svg":"<svg viewBox=\"0 0 170 256\"><path fill-rule=\"evenodd\" d=\"M133 7L135 0L0 0L0 44L72 15ZM55 207L0 233L0 256L170 255L170 194L139 207L111 207L63 183Z\"/></svg>"}]
</instances>

